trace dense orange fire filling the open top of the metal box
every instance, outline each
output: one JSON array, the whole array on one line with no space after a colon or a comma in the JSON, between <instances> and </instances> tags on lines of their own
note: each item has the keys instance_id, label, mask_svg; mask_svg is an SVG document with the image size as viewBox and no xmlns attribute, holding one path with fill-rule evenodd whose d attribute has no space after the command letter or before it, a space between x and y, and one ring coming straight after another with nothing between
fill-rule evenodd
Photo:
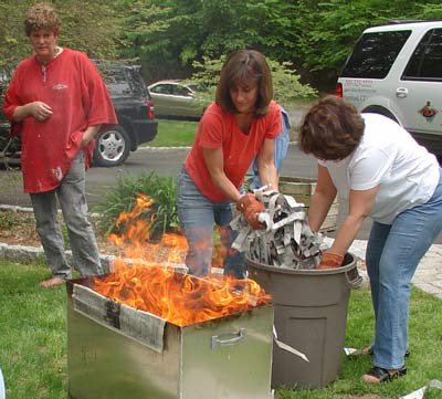
<instances>
[{"instance_id":1,"label":"dense orange fire filling the open top of the metal box","mask_svg":"<svg viewBox=\"0 0 442 399\"><path fill-rule=\"evenodd\" d=\"M97 277L94 290L178 326L248 311L270 300L252 280L198 279L155 263Z\"/></svg>"}]
</instances>

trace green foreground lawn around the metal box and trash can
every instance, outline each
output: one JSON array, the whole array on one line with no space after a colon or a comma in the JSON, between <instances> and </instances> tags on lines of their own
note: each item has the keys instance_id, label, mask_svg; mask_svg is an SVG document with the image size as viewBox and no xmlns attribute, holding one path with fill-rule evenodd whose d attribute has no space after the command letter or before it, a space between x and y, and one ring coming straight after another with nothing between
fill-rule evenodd
<instances>
[{"instance_id":1,"label":"green foreground lawn around the metal box and trash can","mask_svg":"<svg viewBox=\"0 0 442 399\"><path fill-rule=\"evenodd\" d=\"M49 269L41 263L0 261L0 368L8 399L67 396L66 292L63 285L41 288L39 281L48 276ZM369 344L372 325L369 291L352 291L345 345ZM360 382L359 377L370 368L370 357L343 356L340 378L328 387L278 389L277 399L399 398L430 379L442 380L442 301L417 288L412 290L410 308L410 350L408 375L392 382L380 386ZM429 390L425 395L425 399L435 398L441 398L440 390Z\"/></svg>"}]
</instances>

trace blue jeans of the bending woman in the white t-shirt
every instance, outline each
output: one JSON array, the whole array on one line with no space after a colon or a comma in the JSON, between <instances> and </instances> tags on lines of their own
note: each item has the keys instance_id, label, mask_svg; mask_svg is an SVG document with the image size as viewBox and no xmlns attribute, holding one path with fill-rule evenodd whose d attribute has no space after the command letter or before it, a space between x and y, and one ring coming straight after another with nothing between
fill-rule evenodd
<instances>
[{"instance_id":1,"label":"blue jeans of the bending woman in the white t-shirt","mask_svg":"<svg viewBox=\"0 0 442 399\"><path fill-rule=\"evenodd\" d=\"M403 366L410 282L441 231L442 178L428 202L400 213L391 225L373 222L366 254L376 317L373 366Z\"/></svg>"}]
</instances>

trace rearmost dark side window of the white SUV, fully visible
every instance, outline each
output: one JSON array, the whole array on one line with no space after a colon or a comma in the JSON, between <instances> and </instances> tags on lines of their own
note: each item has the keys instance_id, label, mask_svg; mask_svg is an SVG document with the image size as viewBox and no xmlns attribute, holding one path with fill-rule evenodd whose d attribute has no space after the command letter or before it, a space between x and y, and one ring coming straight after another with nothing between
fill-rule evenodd
<instances>
[{"instance_id":1,"label":"rearmost dark side window of the white SUV, fully visible","mask_svg":"<svg viewBox=\"0 0 442 399\"><path fill-rule=\"evenodd\" d=\"M383 78L411 31L365 33L348 59L343 77Z\"/></svg>"}]
</instances>

